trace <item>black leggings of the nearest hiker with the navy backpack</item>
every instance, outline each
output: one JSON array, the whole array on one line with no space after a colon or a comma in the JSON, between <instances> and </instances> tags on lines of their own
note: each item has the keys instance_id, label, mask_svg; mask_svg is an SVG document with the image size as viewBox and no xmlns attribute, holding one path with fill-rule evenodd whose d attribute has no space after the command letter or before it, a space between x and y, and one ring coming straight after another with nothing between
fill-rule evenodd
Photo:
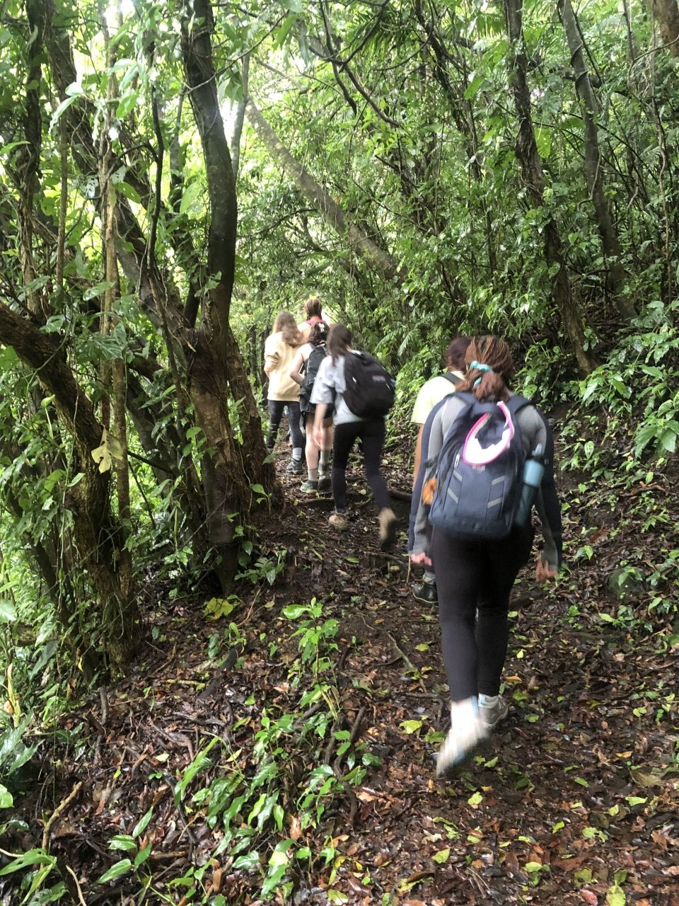
<instances>
[{"instance_id":1,"label":"black leggings of the nearest hiker with the navy backpack","mask_svg":"<svg viewBox=\"0 0 679 906\"><path fill-rule=\"evenodd\" d=\"M460 541L434 531L441 648L453 701L500 691L510 592L532 540L531 526L500 541Z\"/></svg>"}]
</instances>

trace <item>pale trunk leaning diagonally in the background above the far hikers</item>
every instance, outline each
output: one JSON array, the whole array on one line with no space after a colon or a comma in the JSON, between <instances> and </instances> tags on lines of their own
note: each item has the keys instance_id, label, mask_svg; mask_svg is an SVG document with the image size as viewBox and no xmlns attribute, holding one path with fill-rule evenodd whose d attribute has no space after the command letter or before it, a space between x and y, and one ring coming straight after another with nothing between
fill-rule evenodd
<instances>
[{"instance_id":1,"label":"pale trunk leaning diagonally in the background above the far hikers","mask_svg":"<svg viewBox=\"0 0 679 906\"><path fill-rule=\"evenodd\" d=\"M311 204L318 208L326 223L349 242L351 250L356 255L365 258L368 264L388 282L403 283L406 278L404 268L399 268L395 258L376 245L358 226L349 222L341 207L330 198L330 194L316 182L307 169L292 157L269 123L264 120L262 113L254 106L253 101L248 103L247 115L257 135L276 163L309 198Z\"/></svg>"}]
</instances>

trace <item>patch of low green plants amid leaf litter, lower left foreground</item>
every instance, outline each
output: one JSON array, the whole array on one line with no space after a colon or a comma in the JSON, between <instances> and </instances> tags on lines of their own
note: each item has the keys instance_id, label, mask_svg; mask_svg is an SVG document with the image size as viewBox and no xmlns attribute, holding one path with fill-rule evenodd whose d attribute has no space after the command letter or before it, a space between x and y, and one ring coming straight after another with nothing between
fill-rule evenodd
<instances>
[{"instance_id":1,"label":"patch of low green plants amid leaf litter, lower left foreground","mask_svg":"<svg viewBox=\"0 0 679 906\"><path fill-rule=\"evenodd\" d=\"M208 602L206 615L228 617L229 608L218 612L218 603ZM330 902L345 901L332 887L336 859L332 819L340 808L348 807L348 798L356 801L350 787L361 784L380 762L365 743L355 741L353 718L343 710L333 658L339 647L337 620L327 617L315 598L308 604L288 605L282 614L294 629L297 646L293 656L284 658L285 678L268 689L265 700L258 692L247 697L240 716L234 713L224 733L203 734L195 757L183 770L170 774L164 759L156 759L148 783L157 787L154 801L159 803L151 805L128 834L110 836L112 863L91 886L91 895L122 884L139 906L177 899L224 906L235 901L233 895L214 894L213 889L219 889L222 874L228 872L240 878L251 896L257 890L262 900L274 895L285 900L293 877L324 872ZM216 637L217 633L208 644L215 663L222 647ZM280 653L276 639L276 631L259 636L259 645L271 659ZM243 641L233 622L221 633L221 642L230 647ZM241 656L235 668L242 667ZM165 821L164 785L171 790L186 834L190 827L200 841L194 864L169 880L154 859L163 838L157 831ZM16 821L0 825L0 835L22 826ZM21 877L17 903L38 906L69 900L57 855L43 848L14 855L0 877L14 872Z\"/></svg>"}]
</instances>

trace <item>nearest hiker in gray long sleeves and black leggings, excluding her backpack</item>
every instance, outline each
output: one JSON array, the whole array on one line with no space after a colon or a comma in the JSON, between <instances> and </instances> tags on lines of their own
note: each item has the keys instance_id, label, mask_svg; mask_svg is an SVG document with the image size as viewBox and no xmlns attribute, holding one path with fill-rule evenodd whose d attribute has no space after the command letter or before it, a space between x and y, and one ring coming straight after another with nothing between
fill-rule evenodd
<instances>
[{"instance_id":1,"label":"nearest hiker in gray long sleeves and black leggings, excluding her backpack","mask_svg":"<svg viewBox=\"0 0 679 906\"><path fill-rule=\"evenodd\" d=\"M518 411L513 419L520 432L524 457L528 457L538 445L541 446L545 468L535 505L542 524L544 548L536 577L539 580L555 577L561 564L561 516L554 486L554 441L550 426L527 401L522 404L519 398L514 400L514 404L509 402L512 394L507 384L512 378L514 365L505 342L492 336L474 337L465 354L465 364L464 381L458 384L452 396L438 404L426 421L422 438L422 465L413 490L408 542L413 563L433 564L438 589L441 645L453 699L451 729L438 755L439 774L444 774L472 754L474 748L508 713L509 708L499 693L509 638L509 596L521 566L531 554L533 541L530 518L525 525L512 525L505 537L493 538L467 537L464 533L446 534L445 529L432 529L428 524L428 506L422 500L423 490L427 497L427 486L430 481L436 480L433 478L434 468L445 438L454 429L456 419L468 409L473 397L482 403L515 404ZM505 408L504 411L508 410ZM466 422L460 424L464 425L464 434ZM509 428L505 433L512 438ZM472 430L467 439L471 435ZM459 453L457 455L460 456ZM464 456L464 463L469 463L466 453ZM457 462L455 459L454 463ZM455 469L457 467L454 466ZM473 470L479 466L472 464L468 468ZM483 466L480 468L483 469ZM476 497L473 497L475 500ZM480 506L483 505L483 510L486 510L496 502L480 501ZM428 503L431 500L427 499Z\"/></svg>"}]
</instances>

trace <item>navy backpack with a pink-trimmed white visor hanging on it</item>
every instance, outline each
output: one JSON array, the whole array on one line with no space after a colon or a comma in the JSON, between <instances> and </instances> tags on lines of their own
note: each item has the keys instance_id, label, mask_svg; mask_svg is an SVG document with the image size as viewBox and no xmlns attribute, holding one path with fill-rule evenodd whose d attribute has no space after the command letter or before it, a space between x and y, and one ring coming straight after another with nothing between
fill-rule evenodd
<instances>
[{"instance_id":1,"label":"navy backpack with a pink-trimmed white visor hanging on it","mask_svg":"<svg viewBox=\"0 0 679 906\"><path fill-rule=\"evenodd\" d=\"M530 400L479 402L455 393L462 410L437 460L427 463L429 522L455 538L504 538L512 531L521 499L525 454L516 414ZM427 501L426 501L427 502Z\"/></svg>"}]
</instances>

